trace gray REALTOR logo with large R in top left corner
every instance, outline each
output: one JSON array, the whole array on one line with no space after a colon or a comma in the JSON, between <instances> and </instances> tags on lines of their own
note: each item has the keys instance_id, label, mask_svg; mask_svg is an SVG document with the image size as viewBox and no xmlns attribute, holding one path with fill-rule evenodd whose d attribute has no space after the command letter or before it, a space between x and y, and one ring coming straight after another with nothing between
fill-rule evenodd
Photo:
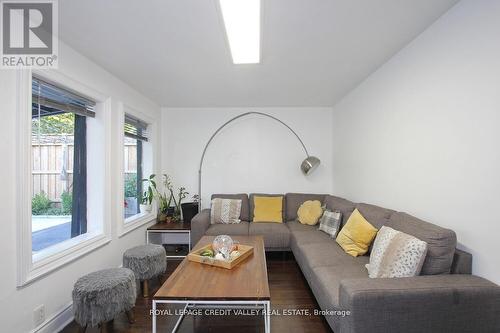
<instances>
[{"instance_id":1,"label":"gray REALTOR logo with large R in top left corner","mask_svg":"<svg viewBox=\"0 0 500 333\"><path fill-rule=\"evenodd\" d=\"M57 68L57 0L1 1L2 68Z\"/></svg>"}]
</instances>

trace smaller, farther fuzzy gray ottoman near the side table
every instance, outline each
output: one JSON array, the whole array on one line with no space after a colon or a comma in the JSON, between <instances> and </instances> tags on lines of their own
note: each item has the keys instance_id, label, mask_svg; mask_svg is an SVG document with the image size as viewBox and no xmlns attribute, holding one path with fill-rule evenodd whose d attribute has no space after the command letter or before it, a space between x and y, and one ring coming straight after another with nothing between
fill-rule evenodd
<instances>
[{"instance_id":1,"label":"smaller, farther fuzzy gray ottoman near the side table","mask_svg":"<svg viewBox=\"0 0 500 333\"><path fill-rule=\"evenodd\" d=\"M130 268L142 283L142 294L148 297L148 280L159 277L167 268L167 253L161 245L140 245L123 254L123 267Z\"/></svg>"}]
</instances>

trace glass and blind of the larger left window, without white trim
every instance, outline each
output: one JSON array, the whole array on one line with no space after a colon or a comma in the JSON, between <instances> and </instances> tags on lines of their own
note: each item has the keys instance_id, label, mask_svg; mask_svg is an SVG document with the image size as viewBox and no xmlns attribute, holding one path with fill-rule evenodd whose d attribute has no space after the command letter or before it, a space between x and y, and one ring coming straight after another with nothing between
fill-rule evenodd
<instances>
[{"instance_id":1,"label":"glass and blind of the larger left window, without white trim","mask_svg":"<svg viewBox=\"0 0 500 333\"><path fill-rule=\"evenodd\" d=\"M87 232L87 119L95 102L32 79L32 253Z\"/></svg>"}]
</instances>

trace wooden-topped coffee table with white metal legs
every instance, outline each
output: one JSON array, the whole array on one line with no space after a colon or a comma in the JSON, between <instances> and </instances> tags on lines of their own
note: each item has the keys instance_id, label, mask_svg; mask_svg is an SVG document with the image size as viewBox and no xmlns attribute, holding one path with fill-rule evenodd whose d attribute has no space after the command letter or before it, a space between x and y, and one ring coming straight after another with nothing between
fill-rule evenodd
<instances>
[{"instance_id":1,"label":"wooden-topped coffee table with white metal legs","mask_svg":"<svg viewBox=\"0 0 500 333\"><path fill-rule=\"evenodd\" d=\"M262 236L231 237L240 244L253 246L253 255L233 269L204 265L185 258L153 297L153 333L156 333L156 306L162 303L184 304L184 310L207 307L262 310L265 332L271 331L271 297L264 240ZM193 251L212 243L214 238L203 236ZM172 332L179 328L182 319L183 314Z\"/></svg>"}]
</instances>

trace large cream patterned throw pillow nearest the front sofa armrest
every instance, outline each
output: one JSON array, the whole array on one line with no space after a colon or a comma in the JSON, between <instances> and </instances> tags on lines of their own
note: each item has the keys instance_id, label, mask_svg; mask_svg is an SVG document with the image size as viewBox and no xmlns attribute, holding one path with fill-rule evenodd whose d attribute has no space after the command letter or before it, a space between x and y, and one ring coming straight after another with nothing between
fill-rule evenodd
<instances>
[{"instance_id":1,"label":"large cream patterned throw pillow nearest the front sofa armrest","mask_svg":"<svg viewBox=\"0 0 500 333\"><path fill-rule=\"evenodd\" d=\"M371 278L411 277L420 274L427 243L418 238L382 227L375 238L366 265Z\"/></svg>"}]
</instances>

